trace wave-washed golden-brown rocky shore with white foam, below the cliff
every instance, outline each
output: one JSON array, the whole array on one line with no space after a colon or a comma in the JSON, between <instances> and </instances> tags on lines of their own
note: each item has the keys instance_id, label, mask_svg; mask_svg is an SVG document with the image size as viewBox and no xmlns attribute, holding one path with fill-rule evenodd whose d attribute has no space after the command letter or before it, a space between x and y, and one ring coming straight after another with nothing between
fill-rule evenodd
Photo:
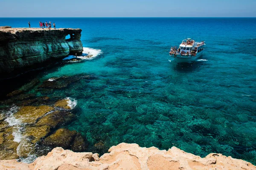
<instances>
[{"instance_id":1,"label":"wave-washed golden-brown rocky shore with white foam, below the cliff","mask_svg":"<svg viewBox=\"0 0 256 170\"><path fill-rule=\"evenodd\" d=\"M66 97L49 98L41 91L65 88L73 82L91 79L87 75L53 77L44 82L32 80L12 91L0 101L0 160L20 159L33 161L46 155L54 147L76 152L86 151L88 142L80 133L63 128L76 119L73 109L76 100ZM36 86L35 93L28 93Z\"/></svg>"}]
</instances>

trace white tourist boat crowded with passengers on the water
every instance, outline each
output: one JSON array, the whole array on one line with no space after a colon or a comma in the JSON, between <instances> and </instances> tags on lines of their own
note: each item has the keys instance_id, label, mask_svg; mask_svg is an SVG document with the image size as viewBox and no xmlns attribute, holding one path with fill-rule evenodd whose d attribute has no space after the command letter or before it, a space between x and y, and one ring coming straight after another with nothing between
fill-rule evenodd
<instances>
[{"instance_id":1,"label":"white tourist boat crowded with passengers on the water","mask_svg":"<svg viewBox=\"0 0 256 170\"><path fill-rule=\"evenodd\" d=\"M169 54L174 57L174 61L180 62L192 62L198 59L204 52L205 42L195 42L187 38L183 40L179 48L171 48Z\"/></svg>"}]
</instances>

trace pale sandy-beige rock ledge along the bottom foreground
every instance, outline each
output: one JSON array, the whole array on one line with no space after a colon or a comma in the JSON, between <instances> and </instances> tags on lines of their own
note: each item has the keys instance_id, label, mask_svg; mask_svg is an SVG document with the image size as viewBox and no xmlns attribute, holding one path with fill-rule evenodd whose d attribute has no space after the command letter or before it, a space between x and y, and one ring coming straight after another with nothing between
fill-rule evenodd
<instances>
[{"instance_id":1,"label":"pale sandy-beige rock ledge along the bottom foreground","mask_svg":"<svg viewBox=\"0 0 256 170\"><path fill-rule=\"evenodd\" d=\"M256 166L241 159L218 153L201 158L177 147L166 151L121 143L108 151L99 158L97 153L74 153L56 147L31 164L0 161L0 170L256 170Z\"/></svg>"}]
</instances>

